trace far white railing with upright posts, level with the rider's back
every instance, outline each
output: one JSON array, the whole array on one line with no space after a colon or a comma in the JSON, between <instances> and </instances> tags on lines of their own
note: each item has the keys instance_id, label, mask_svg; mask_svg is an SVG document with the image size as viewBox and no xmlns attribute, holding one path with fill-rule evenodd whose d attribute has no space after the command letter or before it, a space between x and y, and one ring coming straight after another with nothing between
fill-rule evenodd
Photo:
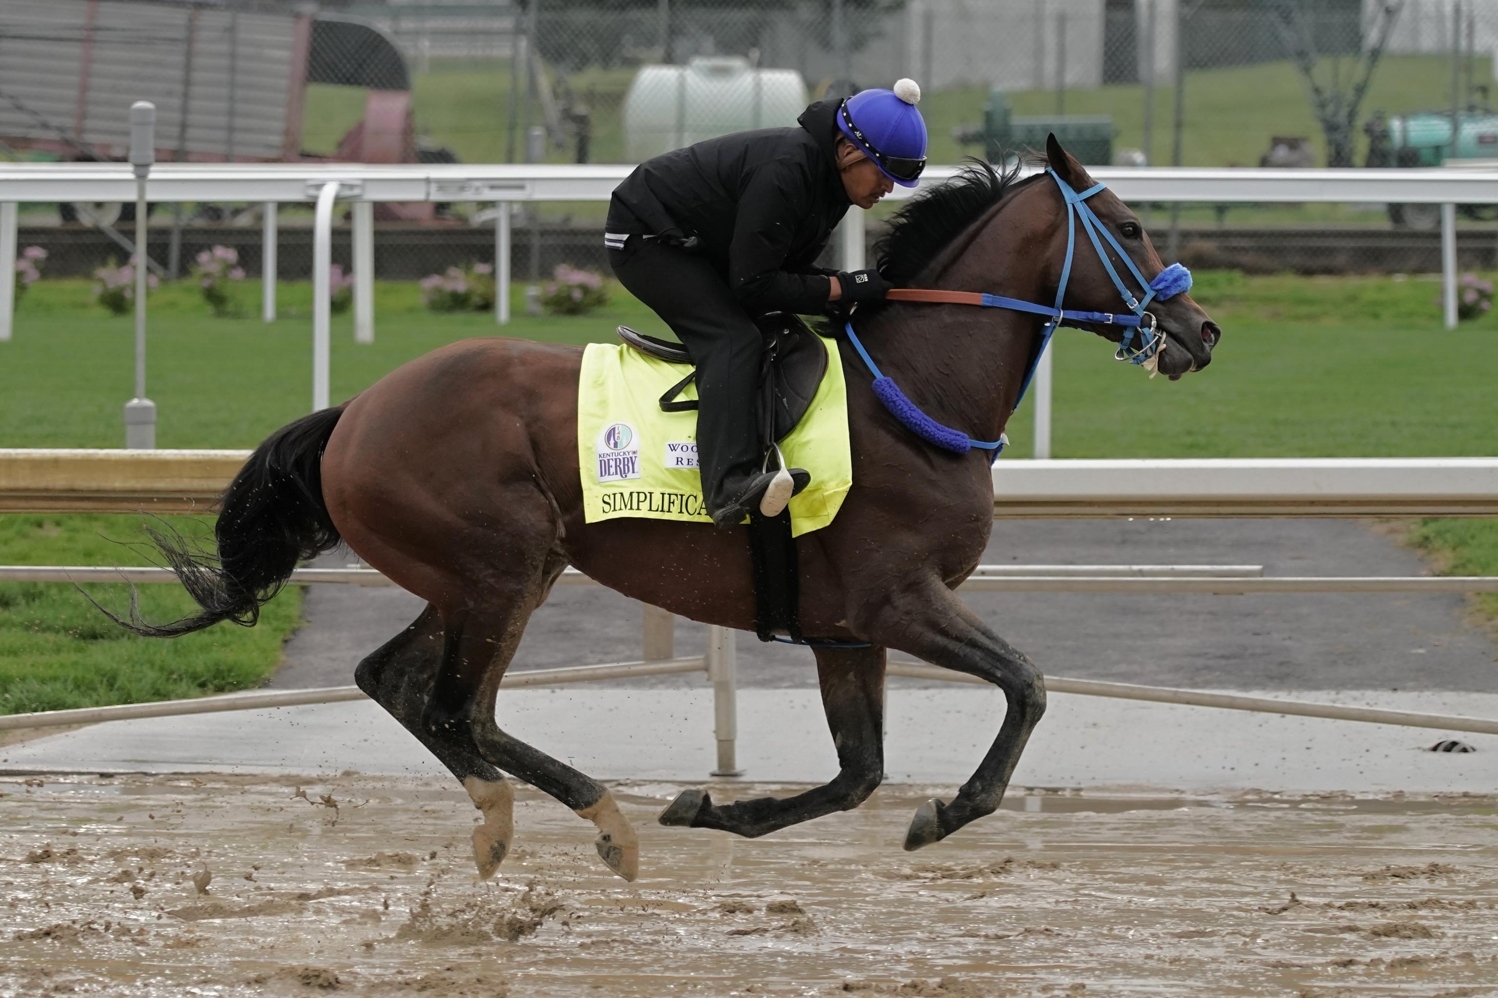
<instances>
[{"instance_id":1,"label":"far white railing with upright posts, level with the rider's back","mask_svg":"<svg viewBox=\"0 0 1498 998\"><path fill-rule=\"evenodd\" d=\"M374 202L515 202L608 200L632 166L551 165L400 165L265 163L211 165L162 163L147 181L153 202L262 202L265 241L262 269L276 274L276 206L319 202L313 232L315 289L328 286L334 200L355 205L354 268L355 338L374 335L373 212L358 205ZM926 171L927 183L948 180L956 168ZM1498 169L1186 169L1095 168L1089 171L1125 200L1164 203L1438 203L1441 212L1441 272L1446 326L1456 326L1456 212L1458 203L1498 203ZM891 199L911 196L896 187ZM12 335L16 202L133 200L135 178L126 163L0 163L0 340ZM509 320L509 211L496 212L494 257L497 293L494 319ZM863 266L864 215L852 211L839 235L843 266ZM274 280L265 283L264 316L276 316ZM328 304L321 296L313 314L315 407L328 398ZM1050 455L1050 355L1037 371L1037 456ZM1044 402L1044 404L1043 404Z\"/></svg>"}]
</instances>

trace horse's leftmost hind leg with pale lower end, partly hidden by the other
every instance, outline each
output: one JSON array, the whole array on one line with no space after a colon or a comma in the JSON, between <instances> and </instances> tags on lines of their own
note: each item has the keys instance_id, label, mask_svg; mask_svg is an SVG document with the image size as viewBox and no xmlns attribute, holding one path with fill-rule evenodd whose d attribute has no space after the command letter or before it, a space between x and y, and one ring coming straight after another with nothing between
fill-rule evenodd
<instances>
[{"instance_id":1,"label":"horse's leftmost hind leg with pale lower end, partly hidden by the other","mask_svg":"<svg viewBox=\"0 0 1498 998\"><path fill-rule=\"evenodd\" d=\"M478 875L499 869L514 838L515 792L505 775L484 762L466 732L428 732L422 724L427 696L436 684L443 651L442 616L428 606L406 630L372 652L354 681L410 732L467 790L484 823L473 829Z\"/></svg>"}]
</instances>

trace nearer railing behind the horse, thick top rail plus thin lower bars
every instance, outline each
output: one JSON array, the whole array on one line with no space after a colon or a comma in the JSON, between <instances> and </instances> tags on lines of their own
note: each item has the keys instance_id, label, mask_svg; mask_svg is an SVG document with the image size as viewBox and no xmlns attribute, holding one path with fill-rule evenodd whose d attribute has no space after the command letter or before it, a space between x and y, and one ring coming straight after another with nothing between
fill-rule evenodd
<instances>
[{"instance_id":1,"label":"nearer railing behind the horse, thick top rail plus thin lower bars","mask_svg":"<svg viewBox=\"0 0 1498 998\"><path fill-rule=\"evenodd\" d=\"M130 512L204 506L243 464L235 450L0 450L0 509ZM995 470L996 516L1255 515L1389 516L1498 515L1498 458L1242 459L1242 461L1005 461ZM0 581L174 582L156 567L3 566ZM300 569L292 582L389 585L372 569ZM596 585L575 570L563 585ZM1483 576L1291 576L1266 578L1263 566L981 566L963 584L980 591L1068 593L1498 593ZM671 619L649 607L644 661L518 672L505 685L580 682L706 670L713 684L716 774L736 772L737 694L733 631L709 630L701 657L679 658ZM891 676L968 678L912 661L888 663ZM1080 696L1125 697L1239 711L1498 733L1498 721L1380 711L1272 697L1132 684L1047 678L1047 688ZM166 717L294 703L360 699L355 687L283 690L0 717L0 730L51 727L126 717Z\"/></svg>"}]
</instances>

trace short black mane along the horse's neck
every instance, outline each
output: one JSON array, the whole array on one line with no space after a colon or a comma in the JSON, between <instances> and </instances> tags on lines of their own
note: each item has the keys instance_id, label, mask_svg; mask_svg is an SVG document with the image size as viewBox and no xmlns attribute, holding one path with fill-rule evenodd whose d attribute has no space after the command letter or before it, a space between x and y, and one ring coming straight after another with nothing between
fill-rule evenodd
<instances>
[{"instance_id":1,"label":"short black mane along the horse's neck","mask_svg":"<svg viewBox=\"0 0 1498 998\"><path fill-rule=\"evenodd\" d=\"M873 257L884 277L896 287L909 286L983 212L1035 180L1019 180L1020 166L1022 160L1016 159L999 171L969 157L953 180L906 202L873 242Z\"/></svg>"}]
</instances>

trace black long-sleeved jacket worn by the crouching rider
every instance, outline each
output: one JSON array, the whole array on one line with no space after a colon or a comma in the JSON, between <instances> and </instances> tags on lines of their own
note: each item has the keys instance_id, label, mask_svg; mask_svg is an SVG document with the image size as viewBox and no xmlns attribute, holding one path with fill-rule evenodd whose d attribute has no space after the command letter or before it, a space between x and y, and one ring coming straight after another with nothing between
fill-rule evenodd
<instances>
[{"instance_id":1,"label":"black long-sleeved jacket worn by the crouching rider","mask_svg":"<svg viewBox=\"0 0 1498 998\"><path fill-rule=\"evenodd\" d=\"M800 127L725 135L641 163L614 189L608 232L697 236L749 314L822 311L830 284L813 262L851 205L836 111L822 100Z\"/></svg>"}]
</instances>

